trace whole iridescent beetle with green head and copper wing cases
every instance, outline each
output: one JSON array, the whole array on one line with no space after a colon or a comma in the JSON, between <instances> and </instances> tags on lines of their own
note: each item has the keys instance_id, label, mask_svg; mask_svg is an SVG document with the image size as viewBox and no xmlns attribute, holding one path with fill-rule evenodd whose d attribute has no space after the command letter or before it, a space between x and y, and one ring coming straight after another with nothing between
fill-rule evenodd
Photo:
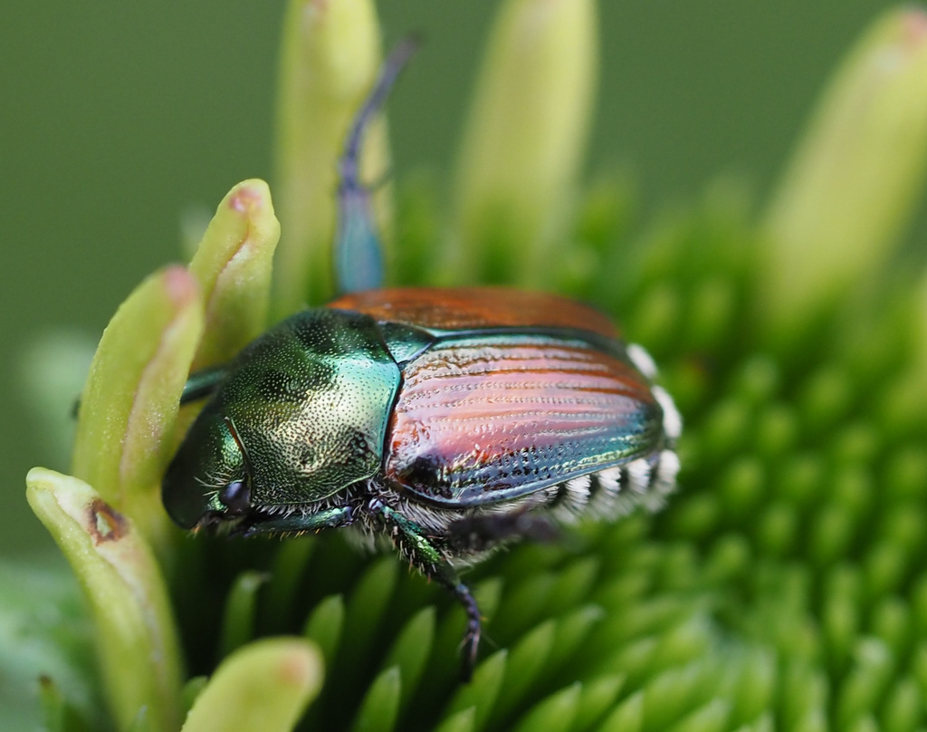
<instances>
[{"instance_id":1,"label":"whole iridescent beetle with green head and copper wing cases","mask_svg":"<svg viewBox=\"0 0 927 732\"><path fill-rule=\"evenodd\" d=\"M387 59L340 161L344 294L189 379L182 402L208 401L162 497L184 529L387 536L463 604L468 678L481 621L460 566L573 520L658 507L675 484L681 421L646 352L578 302L375 287L361 138L412 48Z\"/></svg>"}]
</instances>

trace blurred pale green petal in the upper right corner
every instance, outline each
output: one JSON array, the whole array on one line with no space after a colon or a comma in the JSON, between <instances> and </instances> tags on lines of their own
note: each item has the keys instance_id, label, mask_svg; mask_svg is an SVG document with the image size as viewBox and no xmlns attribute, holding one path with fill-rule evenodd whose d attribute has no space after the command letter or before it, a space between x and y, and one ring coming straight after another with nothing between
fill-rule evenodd
<instances>
[{"instance_id":1,"label":"blurred pale green petal in the upper right corner","mask_svg":"<svg viewBox=\"0 0 927 732\"><path fill-rule=\"evenodd\" d=\"M763 217L759 305L804 330L893 250L927 162L927 14L887 13L829 84Z\"/></svg>"}]
</instances>

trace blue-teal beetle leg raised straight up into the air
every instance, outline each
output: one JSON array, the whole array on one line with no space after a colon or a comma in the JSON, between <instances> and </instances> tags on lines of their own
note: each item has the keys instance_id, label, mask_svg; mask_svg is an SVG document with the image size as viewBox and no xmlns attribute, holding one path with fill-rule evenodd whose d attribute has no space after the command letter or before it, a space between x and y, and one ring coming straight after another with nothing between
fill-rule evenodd
<instances>
[{"instance_id":1,"label":"blue-teal beetle leg raised straight up into the air","mask_svg":"<svg viewBox=\"0 0 927 732\"><path fill-rule=\"evenodd\" d=\"M354 118L344 154L338 162L338 219L335 236L335 280L340 293L380 287L383 256L374 223L370 189L361 182L361 139L383 105L396 77L417 43L407 38L397 45L380 71L374 88Z\"/></svg>"}]
</instances>

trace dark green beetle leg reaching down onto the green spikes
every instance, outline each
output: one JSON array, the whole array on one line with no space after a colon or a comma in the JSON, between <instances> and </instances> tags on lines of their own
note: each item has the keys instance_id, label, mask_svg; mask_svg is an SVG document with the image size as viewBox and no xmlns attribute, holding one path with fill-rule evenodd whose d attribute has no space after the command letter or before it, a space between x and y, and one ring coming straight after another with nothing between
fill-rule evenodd
<instances>
[{"instance_id":1,"label":"dark green beetle leg reaching down onto the green spikes","mask_svg":"<svg viewBox=\"0 0 927 732\"><path fill-rule=\"evenodd\" d=\"M400 553L412 562L415 569L429 580L434 579L444 586L464 606L467 624L461 675L464 682L469 681L476 666L476 651L479 649L479 638L483 630L476 597L473 597L470 588L461 582L457 572L451 567L451 562L444 557L438 546L425 536L425 530L421 526L401 516L379 499L375 499L370 508L387 524L389 538Z\"/></svg>"}]
</instances>

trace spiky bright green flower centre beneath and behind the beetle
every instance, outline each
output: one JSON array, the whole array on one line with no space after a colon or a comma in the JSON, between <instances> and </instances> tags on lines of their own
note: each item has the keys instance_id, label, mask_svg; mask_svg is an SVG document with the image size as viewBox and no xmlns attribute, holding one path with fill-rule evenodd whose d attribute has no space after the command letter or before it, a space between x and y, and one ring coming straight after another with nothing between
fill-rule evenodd
<instances>
[{"instance_id":1,"label":"spiky bright green flower centre beneath and behind the beetle","mask_svg":"<svg viewBox=\"0 0 927 732\"><path fill-rule=\"evenodd\" d=\"M611 190L612 210L627 210ZM401 199L419 230L428 204ZM615 236L584 211L572 246ZM740 205L713 193L656 230L600 246L628 252L620 295L598 281L603 267L580 284L629 315L633 340L652 332L638 314L665 297L653 293L673 293L661 327L679 338L653 349L686 419L666 510L515 546L472 571L487 642L469 685L462 611L392 556L371 562L340 534L184 542L172 586L190 673L209 674L252 633L302 630L326 676L300 729L922 725L923 425L893 428L877 397L908 368L904 334L886 354L854 333L908 320L886 297L835 315L816 353L760 350ZM707 308L719 323L700 311L709 291L728 293ZM697 338L685 335L693 319Z\"/></svg>"}]
</instances>

